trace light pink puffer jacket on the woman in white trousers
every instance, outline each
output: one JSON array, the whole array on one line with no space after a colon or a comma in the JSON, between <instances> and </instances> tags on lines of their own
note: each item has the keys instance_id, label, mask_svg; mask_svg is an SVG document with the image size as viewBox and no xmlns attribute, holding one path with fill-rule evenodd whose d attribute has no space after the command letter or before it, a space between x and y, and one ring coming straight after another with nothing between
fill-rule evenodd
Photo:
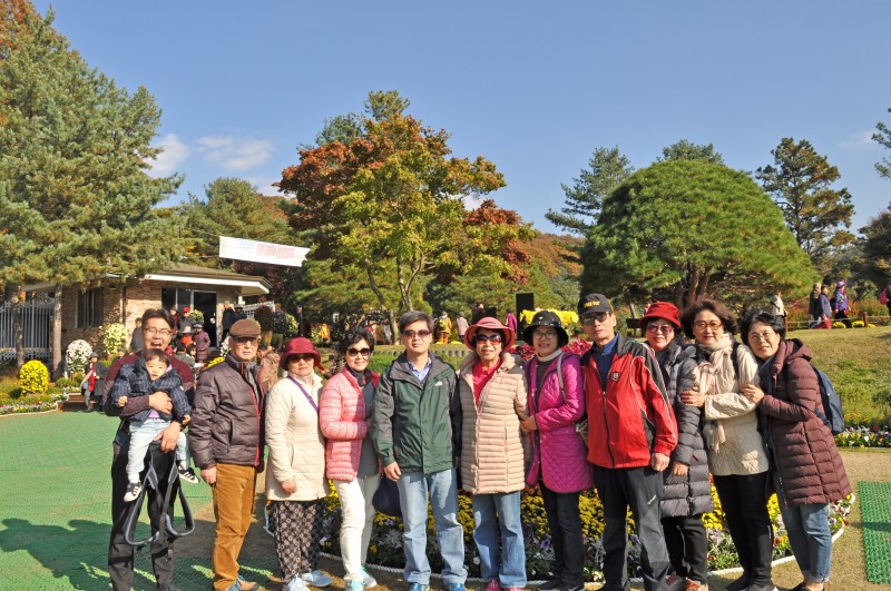
<instances>
[{"instance_id":1,"label":"light pink puffer jacket on the woman in white trousers","mask_svg":"<svg viewBox=\"0 0 891 591\"><path fill-rule=\"evenodd\" d=\"M381 376L371 373L378 387ZM365 422L365 398L350 371L327 381L319 403L319 423L325 436L325 476L332 480L355 480L362 454L362 440L369 432Z\"/></svg>"}]
</instances>

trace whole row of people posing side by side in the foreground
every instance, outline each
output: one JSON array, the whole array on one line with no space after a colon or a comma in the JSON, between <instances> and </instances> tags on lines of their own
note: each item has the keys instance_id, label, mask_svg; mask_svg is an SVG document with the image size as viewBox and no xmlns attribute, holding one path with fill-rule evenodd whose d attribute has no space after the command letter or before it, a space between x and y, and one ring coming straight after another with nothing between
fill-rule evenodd
<instances>
[{"instance_id":1,"label":"whole row of people posing side by side in the foreground","mask_svg":"<svg viewBox=\"0 0 891 591\"><path fill-rule=\"evenodd\" d=\"M383 479L399 493L403 577L411 591L430 584L428 503L443 582L449 591L463 590L459 489L471 495L487 591L526 587L520 494L527 486L541 492L555 555L552 575L539 589L584 588L579 495L594 487L604 506L604 589L630 588L630 509L645 588L707 590L702 516L713 509L709 474L743 569L726 589L774 589L767 499L775 491L802 571L796 589L821 590L832 553L828 508L851 487L824 421L811 352L785 338L783 317L748 313L737 343L737 321L718 302L697 302L683 314L654 302L640 321L646 342L639 343L617 334L615 312L600 294L584 296L578 313L591 342L581 357L564 349L569 335L551 312L537 313L525 328L523 341L535 349L525 364L511 353L517 331L480 317L464 331L470 354L458 372L430 351L435 323L423 312L400 318L404 352L381 375L369 370L375 339L361 327L337 344L345 365L324 384L321 355L303 337L281 354L285 377L257 363L260 326L249 319L232 325L225 362L205 371L197 388L192 373L170 358L164 375L178 375L194 401L188 443L214 493L215 589L257 587L242 577L238 554L253 518L256 476L265 469L286 591L331 582L317 569L330 481L342 506L346 587L376 584L365 560L372 500ZM163 309L146 312L143 326L146 349L164 349L175 331ZM140 359L116 362L106 393ZM136 390L145 395L104 398L105 411L124 418L111 470L115 589L133 582L133 549L123 536L127 473L134 470L127 467L130 434L140 431L140 413L169 416L154 433L160 451L170 452L186 423L170 395ZM165 487L177 485L148 491L153 523L163 513ZM153 567L159 589L173 589L172 540L158 530Z\"/></svg>"}]
</instances>

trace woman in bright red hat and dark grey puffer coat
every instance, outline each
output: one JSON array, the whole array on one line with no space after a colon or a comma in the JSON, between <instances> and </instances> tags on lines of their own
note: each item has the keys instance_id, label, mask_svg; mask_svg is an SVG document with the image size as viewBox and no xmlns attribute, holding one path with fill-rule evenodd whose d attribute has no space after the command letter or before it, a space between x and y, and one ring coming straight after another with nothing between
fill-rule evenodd
<instances>
[{"instance_id":1,"label":"woman in bright red hat and dark grey puffer coat","mask_svg":"<svg viewBox=\"0 0 891 591\"><path fill-rule=\"evenodd\" d=\"M714 510L708 462L701 427L702 408L681 402L678 392L696 383L696 347L684 344L681 312L668 302L653 302L640 329L662 368L668 402L677 421L678 443L665 471L662 528L672 573L669 589L705 590L708 582L708 539L703 513Z\"/></svg>"}]
</instances>

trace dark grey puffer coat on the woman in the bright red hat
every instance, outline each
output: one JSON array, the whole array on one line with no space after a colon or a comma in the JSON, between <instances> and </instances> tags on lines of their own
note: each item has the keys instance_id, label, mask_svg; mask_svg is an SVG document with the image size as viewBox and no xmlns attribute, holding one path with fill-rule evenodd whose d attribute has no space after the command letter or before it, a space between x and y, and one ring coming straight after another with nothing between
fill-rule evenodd
<instances>
[{"instance_id":1,"label":"dark grey puffer coat on the woman in the bright red hat","mask_svg":"<svg viewBox=\"0 0 891 591\"><path fill-rule=\"evenodd\" d=\"M696 347L675 339L659 363L668 401L677 418L677 447L672 452L672 463L665 470L662 493L662 516L679 518L707 513L714 509L712 484L708 480L708 459L702 431L702 408L681 402L678 394L693 388L696 383ZM686 476L673 476L675 462L689 466Z\"/></svg>"}]
</instances>

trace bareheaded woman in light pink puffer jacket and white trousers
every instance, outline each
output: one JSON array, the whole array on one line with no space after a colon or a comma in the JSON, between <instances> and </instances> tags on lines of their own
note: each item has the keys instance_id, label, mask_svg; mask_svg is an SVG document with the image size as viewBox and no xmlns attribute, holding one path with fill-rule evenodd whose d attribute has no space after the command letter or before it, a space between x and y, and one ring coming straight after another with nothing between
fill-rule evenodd
<instances>
[{"instance_id":1,"label":"bareheaded woman in light pink puffer jacket and white trousers","mask_svg":"<svg viewBox=\"0 0 891 591\"><path fill-rule=\"evenodd\" d=\"M325 475L334 481L341 501L341 555L346 589L356 591L378 582L365 569L374 522L371 502L381 483L381 467L369 436L374 388L380 375L369 370L374 337L352 328L337 344L346 361L322 390L319 416L325 436Z\"/></svg>"}]
</instances>

